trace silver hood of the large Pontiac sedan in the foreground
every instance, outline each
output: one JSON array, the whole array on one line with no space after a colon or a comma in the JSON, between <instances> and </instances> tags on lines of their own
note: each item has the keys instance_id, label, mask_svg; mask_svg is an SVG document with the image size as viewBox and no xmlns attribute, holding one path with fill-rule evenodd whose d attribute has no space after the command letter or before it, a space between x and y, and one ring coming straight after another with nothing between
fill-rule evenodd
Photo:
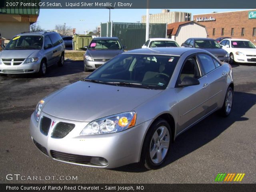
<instances>
[{"instance_id":1,"label":"silver hood of the large Pontiac sedan in the foreground","mask_svg":"<svg viewBox=\"0 0 256 192\"><path fill-rule=\"evenodd\" d=\"M159 94L149 90L79 81L45 98L43 112L58 118L91 122L128 112Z\"/></svg>"}]
</instances>

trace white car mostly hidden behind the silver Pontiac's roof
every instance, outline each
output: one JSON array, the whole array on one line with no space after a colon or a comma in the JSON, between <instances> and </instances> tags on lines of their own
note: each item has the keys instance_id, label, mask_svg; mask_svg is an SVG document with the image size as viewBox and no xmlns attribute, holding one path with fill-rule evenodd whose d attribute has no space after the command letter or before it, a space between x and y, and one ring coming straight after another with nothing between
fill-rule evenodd
<instances>
[{"instance_id":1,"label":"white car mostly hidden behind the silver Pontiac's roof","mask_svg":"<svg viewBox=\"0 0 256 192\"><path fill-rule=\"evenodd\" d=\"M180 46L175 40L172 40L172 39L151 38L151 39L148 39L141 48L154 48L154 47L180 47Z\"/></svg>"}]
</instances>

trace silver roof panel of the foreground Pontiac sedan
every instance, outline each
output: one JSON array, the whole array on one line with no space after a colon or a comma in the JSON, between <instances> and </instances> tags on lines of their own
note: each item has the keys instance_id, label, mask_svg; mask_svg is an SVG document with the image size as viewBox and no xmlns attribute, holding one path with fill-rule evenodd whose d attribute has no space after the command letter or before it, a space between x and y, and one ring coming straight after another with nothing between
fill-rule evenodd
<instances>
[{"instance_id":1,"label":"silver roof panel of the foreground Pontiac sedan","mask_svg":"<svg viewBox=\"0 0 256 192\"><path fill-rule=\"evenodd\" d=\"M185 47L158 47L158 48L143 48L143 49L134 49L131 51L124 52L123 54L156 54L156 55L173 55L181 56L185 52L190 52L191 54L197 52L207 51L197 48L185 48Z\"/></svg>"}]
</instances>

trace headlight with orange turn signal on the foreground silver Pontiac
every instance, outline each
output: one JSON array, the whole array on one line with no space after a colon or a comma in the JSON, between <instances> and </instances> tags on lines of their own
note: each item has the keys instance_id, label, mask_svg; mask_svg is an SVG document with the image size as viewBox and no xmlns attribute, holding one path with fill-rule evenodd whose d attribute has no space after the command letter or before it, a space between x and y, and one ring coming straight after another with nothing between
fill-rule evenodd
<instances>
[{"instance_id":1,"label":"headlight with orange turn signal on the foreground silver Pontiac","mask_svg":"<svg viewBox=\"0 0 256 192\"><path fill-rule=\"evenodd\" d=\"M131 128L136 123L136 112L120 113L90 122L80 135L116 133Z\"/></svg>"}]
</instances>

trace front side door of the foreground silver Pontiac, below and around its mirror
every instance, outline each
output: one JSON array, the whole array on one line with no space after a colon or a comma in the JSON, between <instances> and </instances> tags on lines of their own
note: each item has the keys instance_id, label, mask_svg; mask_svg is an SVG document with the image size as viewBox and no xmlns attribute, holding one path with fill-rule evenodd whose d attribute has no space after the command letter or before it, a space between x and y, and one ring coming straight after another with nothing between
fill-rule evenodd
<instances>
[{"instance_id":1,"label":"front side door of the foreground silver Pontiac, below and around its mirror","mask_svg":"<svg viewBox=\"0 0 256 192\"><path fill-rule=\"evenodd\" d=\"M177 83L181 82L185 76L197 78L200 84L175 88L179 109L178 134L204 117L208 109L208 79L204 76L195 55L185 60Z\"/></svg>"}]
</instances>

